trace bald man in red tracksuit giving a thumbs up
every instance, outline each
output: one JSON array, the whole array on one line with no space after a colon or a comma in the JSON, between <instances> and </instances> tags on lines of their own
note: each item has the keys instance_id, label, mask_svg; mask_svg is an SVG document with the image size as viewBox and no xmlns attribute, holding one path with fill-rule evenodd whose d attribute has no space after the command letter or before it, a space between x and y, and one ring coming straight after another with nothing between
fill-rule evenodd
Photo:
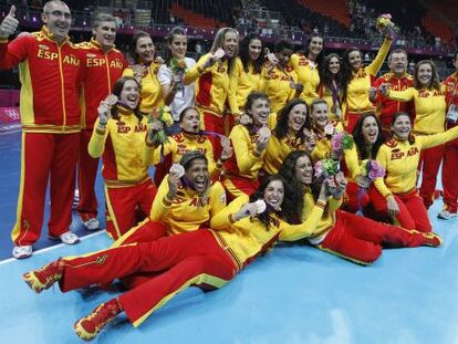
<instances>
[{"instance_id":1,"label":"bald man in red tracksuit giving a thumbs up","mask_svg":"<svg viewBox=\"0 0 458 344\"><path fill-rule=\"evenodd\" d=\"M18 28L15 8L0 24L0 69L19 64L22 123L21 181L17 222L11 233L13 257L28 258L40 238L50 179L49 236L64 243L79 238L69 229L81 131L79 88L84 74L80 50L69 41L69 7L44 4L43 28L8 42Z\"/></svg>"}]
</instances>

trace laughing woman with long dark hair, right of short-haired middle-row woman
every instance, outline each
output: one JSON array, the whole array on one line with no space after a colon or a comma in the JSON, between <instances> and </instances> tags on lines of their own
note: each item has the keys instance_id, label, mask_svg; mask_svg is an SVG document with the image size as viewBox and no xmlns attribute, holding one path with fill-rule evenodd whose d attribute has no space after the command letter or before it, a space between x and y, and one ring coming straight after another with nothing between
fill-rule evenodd
<instances>
[{"instance_id":1,"label":"laughing woman with long dark hair, right of short-haired middle-row woman","mask_svg":"<svg viewBox=\"0 0 458 344\"><path fill-rule=\"evenodd\" d=\"M304 129L310 131L310 116L305 101L302 98L290 101L278 114L270 115L269 126L272 136L266 148L262 169L268 175L274 175L279 173L288 154L310 147L311 137L304 134Z\"/></svg>"}]
</instances>

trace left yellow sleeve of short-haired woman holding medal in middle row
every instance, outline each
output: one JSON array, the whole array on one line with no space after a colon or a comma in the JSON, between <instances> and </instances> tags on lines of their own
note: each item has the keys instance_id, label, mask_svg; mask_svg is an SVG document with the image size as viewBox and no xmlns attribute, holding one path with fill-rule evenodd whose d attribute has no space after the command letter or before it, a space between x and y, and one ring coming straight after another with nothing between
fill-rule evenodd
<instances>
[{"instance_id":1,"label":"left yellow sleeve of short-haired woman holding medal in middle row","mask_svg":"<svg viewBox=\"0 0 458 344\"><path fill-rule=\"evenodd\" d=\"M251 142L248 129L241 125L236 125L230 135L237 167L241 176L256 177L262 167L266 150L260 156L254 154L256 144Z\"/></svg>"}]
</instances>

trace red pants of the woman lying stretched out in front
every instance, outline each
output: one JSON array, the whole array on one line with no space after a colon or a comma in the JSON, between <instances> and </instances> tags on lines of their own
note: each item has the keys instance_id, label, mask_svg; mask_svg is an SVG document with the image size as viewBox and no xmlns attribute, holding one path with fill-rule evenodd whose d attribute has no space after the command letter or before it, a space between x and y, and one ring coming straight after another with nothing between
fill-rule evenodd
<instances>
[{"instance_id":1,"label":"red pants of the woman lying stretched out in front","mask_svg":"<svg viewBox=\"0 0 458 344\"><path fill-rule=\"evenodd\" d=\"M186 288L221 288L237 274L236 265L210 230L122 246L64 262L59 281L62 292L106 283L134 272L163 271L118 296L134 326Z\"/></svg>"}]
</instances>

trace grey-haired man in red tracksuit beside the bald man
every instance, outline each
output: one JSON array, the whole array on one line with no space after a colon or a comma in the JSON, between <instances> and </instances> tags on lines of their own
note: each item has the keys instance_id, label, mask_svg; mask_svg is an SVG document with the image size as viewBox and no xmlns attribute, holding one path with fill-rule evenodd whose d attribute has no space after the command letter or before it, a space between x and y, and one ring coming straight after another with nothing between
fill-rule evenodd
<instances>
[{"instance_id":1,"label":"grey-haired man in red tracksuit beside the bald man","mask_svg":"<svg viewBox=\"0 0 458 344\"><path fill-rule=\"evenodd\" d=\"M113 85L123 75L127 62L121 51L114 48L116 23L112 15L100 13L93 23L94 38L77 46L85 54L86 74L83 81L82 131L80 135L80 157L77 164L77 187L80 202L77 212L89 230L98 229L97 199L94 184L98 158L87 153L97 107L112 92Z\"/></svg>"}]
</instances>

